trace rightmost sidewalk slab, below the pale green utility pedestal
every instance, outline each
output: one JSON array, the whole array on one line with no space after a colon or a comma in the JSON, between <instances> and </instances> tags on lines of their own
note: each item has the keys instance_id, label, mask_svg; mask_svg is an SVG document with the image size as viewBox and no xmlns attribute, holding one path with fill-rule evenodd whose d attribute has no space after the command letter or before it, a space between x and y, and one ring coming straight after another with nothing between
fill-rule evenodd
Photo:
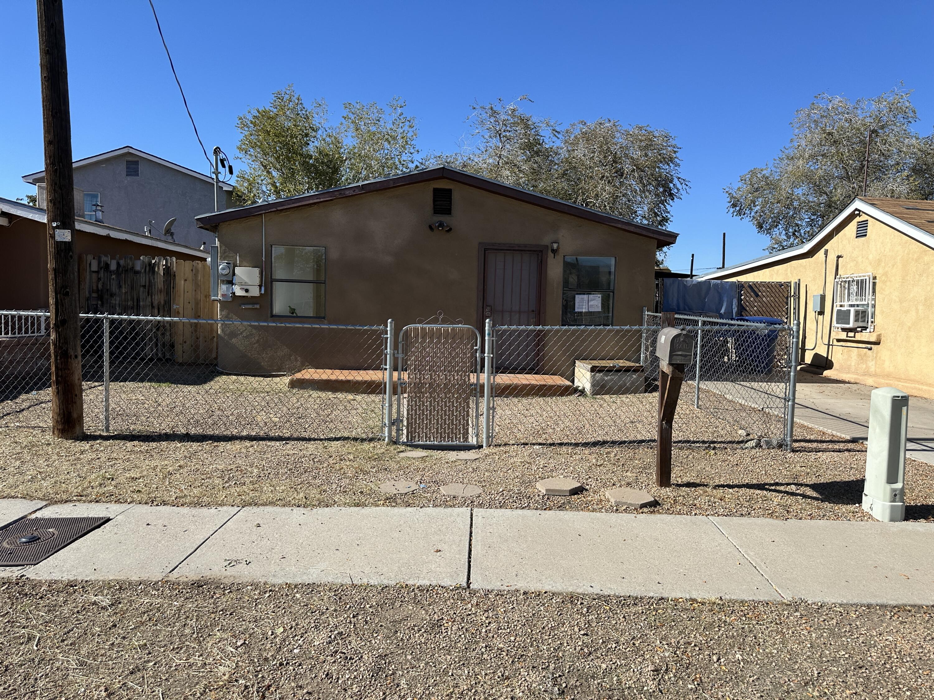
<instances>
[{"instance_id":1,"label":"rightmost sidewalk slab, below the pale green utility pedestal","mask_svg":"<svg viewBox=\"0 0 934 700\"><path fill-rule=\"evenodd\" d=\"M934 523L711 520L787 598L934 604Z\"/></svg>"}]
</instances>

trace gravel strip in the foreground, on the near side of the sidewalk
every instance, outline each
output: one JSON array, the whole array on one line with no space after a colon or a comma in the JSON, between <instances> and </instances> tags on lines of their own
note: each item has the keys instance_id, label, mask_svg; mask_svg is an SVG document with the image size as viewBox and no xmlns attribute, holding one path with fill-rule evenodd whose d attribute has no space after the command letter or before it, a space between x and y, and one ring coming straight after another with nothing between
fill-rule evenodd
<instances>
[{"instance_id":1,"label":"gravel strip in the foreground, on the near side of the sidewalk","mask_svg":"<svg viewBox=\"0 0 934 700\"><path fill-rule=\"evenodd\" d=\"M931 697L930 608L8 581L0 695Z\"/></svg>"}]
</instances>

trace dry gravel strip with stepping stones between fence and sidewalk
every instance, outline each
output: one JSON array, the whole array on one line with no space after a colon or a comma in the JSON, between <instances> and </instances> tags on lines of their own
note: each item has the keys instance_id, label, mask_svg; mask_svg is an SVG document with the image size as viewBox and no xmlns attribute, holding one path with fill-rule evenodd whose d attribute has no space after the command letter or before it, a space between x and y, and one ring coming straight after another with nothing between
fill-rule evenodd
<instances>
[{"instance_id":1,"label":"dry gravel strip with stepping stones between fence and sidewalk","mask_svg":"<svg viewBox=\"0 0 934 700\"><path fill-rule=\"evenodd\" d=\"M0 428L0 497L176 506L473 506L614 511L603 491L644 489L653 512L869 520L860 508L865 447L805 427L797 449L676 448L672 488L654 485L651 447L500 446L475 461L432 452L420 459L379 442L110 437L56 441L46 430ZM545 497L535 483L577 479L587 491ZM409 480L386 496L378 484ZM934 470L909 460L909 520L934 520ZM482 495L447 497L439 486L474 483Z\"/></svg>"}]
</instances>

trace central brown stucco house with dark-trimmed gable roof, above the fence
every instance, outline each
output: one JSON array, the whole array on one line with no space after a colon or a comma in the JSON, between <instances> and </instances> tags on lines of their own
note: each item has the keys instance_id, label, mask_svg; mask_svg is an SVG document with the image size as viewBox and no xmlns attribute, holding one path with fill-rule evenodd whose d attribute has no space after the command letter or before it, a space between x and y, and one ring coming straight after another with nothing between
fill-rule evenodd
<instances>
[{"instance_id":1,"label":"central brown stucco house with dark-trimmed gable roof, above the fence","mask_svg":"<svg viewBox=\"0 0 934 700\"><path fill-rule=\"evenodd\" d=\"M256 296L220 301L220 318L327 325L393 318L397 328L439 311L477 329L486 318L637 325L643 307L652 307L656 251L677 238L448 167L196 220L215 232L219 260L259 273ZM239 369L234 355L265 356L256 343L226 350L220 343L221 369ZM261 361L255 370L275 368Z\"/></svg>"}]
</instances>

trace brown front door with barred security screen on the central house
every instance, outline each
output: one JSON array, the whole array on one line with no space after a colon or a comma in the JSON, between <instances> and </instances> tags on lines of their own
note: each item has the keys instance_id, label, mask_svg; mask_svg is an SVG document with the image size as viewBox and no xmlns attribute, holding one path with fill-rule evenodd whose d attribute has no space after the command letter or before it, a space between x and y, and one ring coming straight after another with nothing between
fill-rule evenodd
<instances>
[{"instance_id":1,"label":"brown front door with barred security screen on the central house","mask_svg":"<svg viewBox=\"0 0 934 700\"><path fill-rule=\"evenodd\" d=\"M484 251L483 320L494 326L540 326L542 250ZM538 364L538 332L497 332L496 370L533 371Z\"/></svg>"}]
</instances>

